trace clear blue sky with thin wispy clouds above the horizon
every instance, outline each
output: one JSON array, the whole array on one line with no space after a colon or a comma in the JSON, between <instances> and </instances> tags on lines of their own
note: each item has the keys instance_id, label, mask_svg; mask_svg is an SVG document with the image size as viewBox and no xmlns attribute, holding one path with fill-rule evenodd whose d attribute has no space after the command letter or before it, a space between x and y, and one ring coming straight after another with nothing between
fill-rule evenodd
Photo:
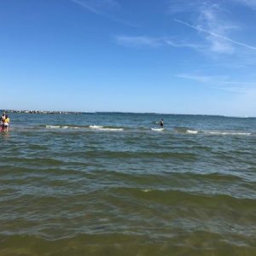
<instances>
[{"instance_id":1,"label":"clear blue sky with thin wispy clouds above the horizon","mask_svg":"<svg viewBox=\"0 0 256 256\"><path fill-rule=\"evenodd\" d=\"M256 0L0 0L0 109L256 116Z\"/></svg>"}]
</instances>

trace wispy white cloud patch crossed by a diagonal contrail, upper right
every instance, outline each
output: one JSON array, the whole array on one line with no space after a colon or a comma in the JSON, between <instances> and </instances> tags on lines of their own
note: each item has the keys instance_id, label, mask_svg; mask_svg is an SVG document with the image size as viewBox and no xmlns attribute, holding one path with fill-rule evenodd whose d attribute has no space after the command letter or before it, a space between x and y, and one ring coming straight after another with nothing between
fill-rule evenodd
<instances>
[{"instance_id":1,"label":"wispy white cloud patch crossed by a diagonal contrail, upper right","mask_svg":"<svg viewBox=\"0 0 256 256\"><path fill-rule=\"evenodd\" d=\"M256 50L256 46L232 38L232 32L241 30L241 27L230 20L232 12L229 11L230 5L227 4L241 3L253 8L256 7L256 0L227 0L224 2L170 0L170 2L169 14L176 16L176 22L194 29L201 35L207 44L197 49L202 50L207 55L212 55L212 53L240 55L241 50L237 50L238 46L251 51ZM184 13L186 13L188 20L193 21L186 22L183 20L180 15L184 15ZM212 56L216 57L216 55Z\"/></svg>"}]
</instances>

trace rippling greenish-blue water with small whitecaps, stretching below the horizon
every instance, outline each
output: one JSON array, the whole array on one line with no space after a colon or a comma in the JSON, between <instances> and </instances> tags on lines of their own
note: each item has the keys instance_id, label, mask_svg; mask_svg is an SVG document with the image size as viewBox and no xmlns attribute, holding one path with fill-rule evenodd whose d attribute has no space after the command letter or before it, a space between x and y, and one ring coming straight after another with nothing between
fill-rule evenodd
<instances>
[{"instance_id":1,"label":"rippling greenish-blue water with small whitecaps, stretching below the horizon","mask_svg":"<svg viewBox=\"0 0 256 256\"><path fill-rule=\"evenodd\" d=\"M0 255L256 255L256 119L9 115Z\"/></svg>"}]
</instances>

